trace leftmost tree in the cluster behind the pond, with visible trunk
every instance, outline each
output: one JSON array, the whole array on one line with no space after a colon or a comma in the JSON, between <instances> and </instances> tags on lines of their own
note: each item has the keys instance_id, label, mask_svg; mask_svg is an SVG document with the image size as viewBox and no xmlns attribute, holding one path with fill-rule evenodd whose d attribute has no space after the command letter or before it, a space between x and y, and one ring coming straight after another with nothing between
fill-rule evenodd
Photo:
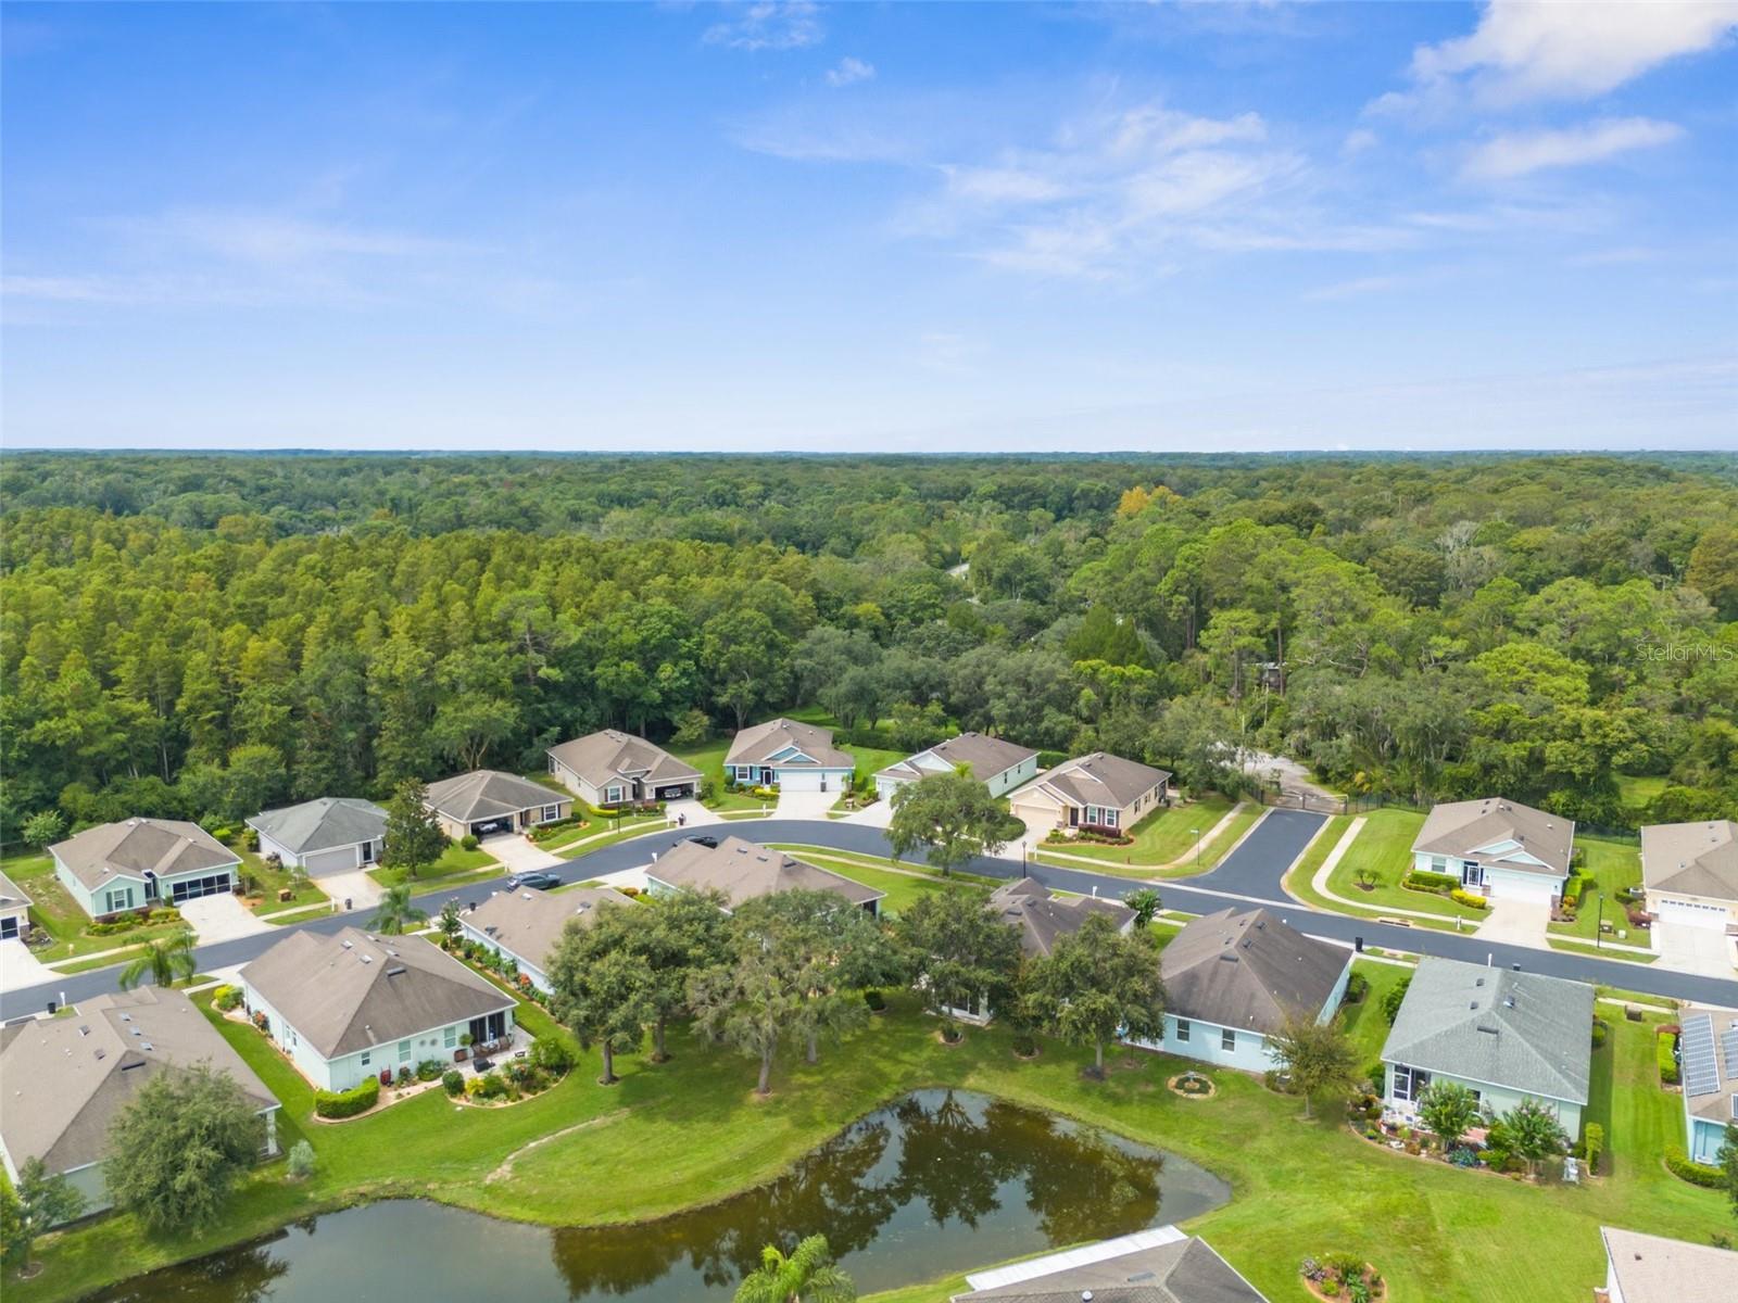
<instances>
[{"instance_id":1,"label":"leftmost tree in the cluster behind the pond, with visible trunk","mask_svg":"<svg viewBox=\"0 0 1738 1303\"><path fill-rule=\"evenodd\" d=\"M549 957L554 1015L582 1049L598 1046L603 1055L600 1086L620 1081L615 1056L636 1051L655 1016L652 973L626 945L626 926L610 926L612 916L626 919L631 912L640 910L605 905L591 926L568 923Z\"/></svg>"}]
</instances>

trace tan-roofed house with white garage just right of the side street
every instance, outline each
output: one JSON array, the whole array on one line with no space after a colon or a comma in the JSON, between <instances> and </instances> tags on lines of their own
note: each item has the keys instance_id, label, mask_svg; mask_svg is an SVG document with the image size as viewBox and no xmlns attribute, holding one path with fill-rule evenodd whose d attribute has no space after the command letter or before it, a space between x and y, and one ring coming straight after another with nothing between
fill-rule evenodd
<instances>
[{"instance_id":1,"label":"tan-roofed house with white garage just right of the side street","mask_svg":"<svg viewBox=\"0 0 1738 1303\"><path fill-rule=\"evenodd\" d=\"M1474 895L1556 905L1569 877L1575 820L1502 797L1436 806L1413 841L1413 870Z\"/></svg>"}]
</instances>

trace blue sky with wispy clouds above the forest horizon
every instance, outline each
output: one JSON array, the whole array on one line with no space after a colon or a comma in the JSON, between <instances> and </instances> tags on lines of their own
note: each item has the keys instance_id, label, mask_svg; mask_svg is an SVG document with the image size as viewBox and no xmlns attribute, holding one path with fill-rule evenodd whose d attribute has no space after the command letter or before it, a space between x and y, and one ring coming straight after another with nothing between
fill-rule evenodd
<instances>
[{"instance_id":1,"label":"blue sky with wispy clouds above the forest horizon","mask_svg":"<svg viewBox=\"0 0 1738 1303\"><path fill-rule=\"evenodd\" d=\"M24 5L10 446L1738 446L1738 3Z\"/></svg>"}]
</instances>

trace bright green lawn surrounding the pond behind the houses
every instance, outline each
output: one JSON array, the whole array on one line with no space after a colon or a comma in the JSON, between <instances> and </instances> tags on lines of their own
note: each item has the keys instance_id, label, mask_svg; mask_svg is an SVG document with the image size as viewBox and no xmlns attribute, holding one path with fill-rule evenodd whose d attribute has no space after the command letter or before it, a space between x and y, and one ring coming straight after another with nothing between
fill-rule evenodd
<instances>
[{"instance_id":1,"label":"bright green lawn surrounding the pond behind the houses","mask_svg":"<svg viewBox=\"0 0 1738 1303\"><path fill-rule=\"evenodd\" d=\"M1359 968L1373 990L1349 1023L1368 1053L1385 1032L1376 1008L1383 983L1403 969ZM890 1006L843 1046L827 1046L819 1065L784 1055L768 1100L753 1096L753 1063L678 1030L673 1062L622 1056L622 1082L610 1089L594 1084L596 1053L587 1053L558 1088L513 1108L454 1110L429 1093L341 1126L313 1126L308 1084L254 1030L224 1022L221 1032L285 1103L285 1147L304 1134L315 1147L315 1176L289 1185L282 1164L261 1167L222 1228L198 1240L144 1237L125 1214L47 1237L43 1272L9 1280L7 1298L71 1300L118 1275L363 1199L428 1197L563 1225L652 1218L765 1181L848 1119L916 1086L987 1091L1206 1164L1234 1197L1187 1230L1276 1301L1304 1298L1304 1254L1345 1251L1373 1261L1401 1300L1580 1303L1604 1275L1601 1225L1703 1244L1731 1230L1719 1192L1684 1185L1660 1162L1681 1121L1677 1096L1653 1082L1649 1023L1611 1022L1589 1108L1608 1126L1609 1176L1569 1188L1390 1154L1333 1117L1300 1121L1297 1100L1236 1072L1210 1070L1218 1086L1210 1101L1178 1100L1163 1082L1182 1060L1140 1055L1126 1067L1116 1055L1109 1081L1093 1082L1081 1075L1085 1051L1046 1042L1036 1062L1022 1063L1001 1029L973 1029L963 1046L942 1049L933 1020L911 997ZM535 1011L525 1022L546 1027ZM572 1129L580 1124L589 1126ZM544 1143L525 1148L534 1140ZM940 1303L958 1287L954 1277L883 1300Z\"/></svg>"}]
</instances>

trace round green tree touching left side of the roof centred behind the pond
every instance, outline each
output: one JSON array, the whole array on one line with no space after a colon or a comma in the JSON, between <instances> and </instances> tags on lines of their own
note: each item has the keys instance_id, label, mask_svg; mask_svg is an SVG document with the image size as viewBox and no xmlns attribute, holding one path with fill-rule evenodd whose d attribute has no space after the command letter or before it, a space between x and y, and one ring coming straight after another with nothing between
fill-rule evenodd
<instances>
[{"instance_id":1,"label":"round green tree touching left side of the roof centred behind the pond","mask_svg":"<svg viewBox=\"0 0 1738 1303\"><path fill-rule=\"evenodd\" d=\"M935 1013L1012 1001L1020 971L1020 935L968 891L935 891L893 923L905 966L925 1004ZM944 1025L958 1041L958 1023Z\"/></svg>"}]
</instances>

